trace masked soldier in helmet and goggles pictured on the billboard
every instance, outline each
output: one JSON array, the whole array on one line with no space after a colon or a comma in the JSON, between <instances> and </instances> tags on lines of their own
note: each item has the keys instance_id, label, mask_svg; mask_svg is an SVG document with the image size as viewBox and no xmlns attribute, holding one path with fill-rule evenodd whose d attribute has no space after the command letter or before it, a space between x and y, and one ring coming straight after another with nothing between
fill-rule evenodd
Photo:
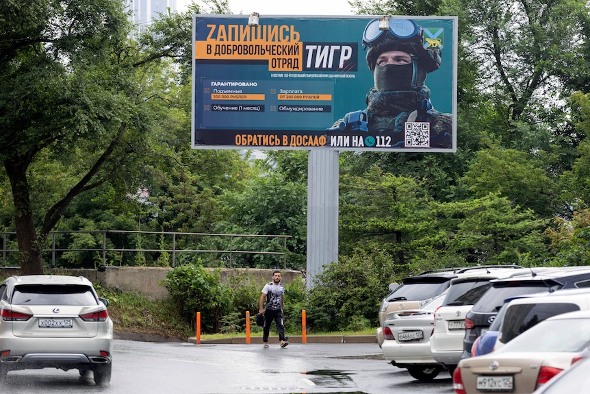
<instances>
[{"instance_id":1,"label":"masked soldier in helmet and goggles pictured on the billboard","mask_svg":"<svg viewBox=\"0 0 590 394\"><path fill-rule=\"evenodd\" d=\"M426 75L439 69L440 47L425 41L422 27L410 19L389 19L385 31L379 29L378 19L370 21L363 33L374 79L365 99L368 106L348 112L327 134L390 136L392 147L405 147L407 124L410 129L428 125L428 145L423 146L450 148L452 116L433 108L431 91L424 84Z\"/></svg>"}]
</instances>

